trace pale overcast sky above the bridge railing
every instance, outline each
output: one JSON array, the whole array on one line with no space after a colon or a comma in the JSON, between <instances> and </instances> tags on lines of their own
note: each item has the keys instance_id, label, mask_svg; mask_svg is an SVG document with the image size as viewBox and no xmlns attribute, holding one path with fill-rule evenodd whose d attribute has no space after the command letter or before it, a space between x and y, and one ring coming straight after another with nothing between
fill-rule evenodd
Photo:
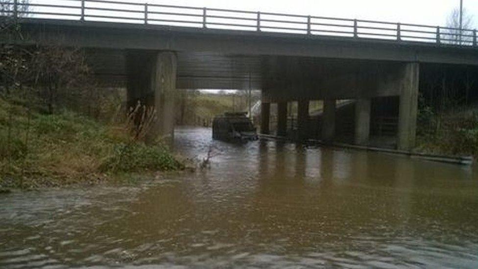
<instances>
[{"instance_id":1,"label":"pale overcast sky above the bridge railing","mask_svg":"<svg viewBox=\"0 0 478 269\"><path fill-rule=\"evenodd\" d=\"M135 0L126 0L135 1ZM136 0L145 2L145 0ZM459 0L147 0L148 3L445 25ZM478 0L464 0L478 28Z\"/></svg>"}]
</instances>

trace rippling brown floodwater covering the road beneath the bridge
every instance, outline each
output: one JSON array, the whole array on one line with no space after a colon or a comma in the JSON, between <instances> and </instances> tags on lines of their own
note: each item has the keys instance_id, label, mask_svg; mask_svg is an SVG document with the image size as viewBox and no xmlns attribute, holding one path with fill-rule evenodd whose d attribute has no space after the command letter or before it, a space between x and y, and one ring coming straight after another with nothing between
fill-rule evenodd
<instances>
[{"instance_id":1,"label":"rippling brown floodwater covering the road beneath the bridge","mask_svg":"<svg viewBox=\"0 0 478 269\"><path fill-rule=\"evenodd\" d=\"M0 196L0 268L478 268L472 167L204 128L176 141L212 145L211 169Z\"/></svg>"}]
</instances>

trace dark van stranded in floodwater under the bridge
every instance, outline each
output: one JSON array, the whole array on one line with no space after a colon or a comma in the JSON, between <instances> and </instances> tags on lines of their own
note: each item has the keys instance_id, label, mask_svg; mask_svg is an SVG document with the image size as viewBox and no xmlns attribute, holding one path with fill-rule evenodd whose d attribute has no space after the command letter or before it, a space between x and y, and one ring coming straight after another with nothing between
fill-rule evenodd
<instances>
[{"instance_id":1,"label":"dark van stranded in floodwater under the bridge","mask_svg":"<svg viewBox=\"0 0 478 269\"><path fill-rule=\"evenodd\" d=\"M213 120L213 139L224 141L257 140L257 129L246 112L226 112Z\"/></svg>"}]
</instances>

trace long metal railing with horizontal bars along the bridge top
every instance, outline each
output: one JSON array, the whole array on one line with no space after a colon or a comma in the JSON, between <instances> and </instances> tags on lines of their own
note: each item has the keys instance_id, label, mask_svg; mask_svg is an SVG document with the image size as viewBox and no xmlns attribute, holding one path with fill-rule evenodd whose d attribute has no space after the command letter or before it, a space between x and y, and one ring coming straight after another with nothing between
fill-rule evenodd
<instances>
[{"instance_id":1,"label":"long metal railing with horizontal bars along the bridge top","mask_svg":"<svg viewBox=\"0 0 478 269\"><path fill-rule=\"evenodd\" d=\"M1 1L1 0L0 0ZM3 0L5 2L5 0ZM62 4L68 3L68 4ZM6 0L1 15L477 46L477 30L115 0Z\"/></svg>"}]
</instances>

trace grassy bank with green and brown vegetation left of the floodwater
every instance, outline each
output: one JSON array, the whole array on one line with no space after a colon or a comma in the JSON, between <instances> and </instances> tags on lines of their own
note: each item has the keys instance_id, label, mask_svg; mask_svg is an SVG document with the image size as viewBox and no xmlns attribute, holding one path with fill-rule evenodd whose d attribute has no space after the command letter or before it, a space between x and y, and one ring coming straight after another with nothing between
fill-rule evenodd
<instances>
[{"instance_id":1,"label":"grassy bank with green and brown vegetation left of the floodwater","mask_svg":"<svg viewBox=\"0 0 478 269\"><path fill-rule=\"evenodd\" d=\"M71 111L44 115L0 98L0 189L137 178L184 165L160 143L134 141Z\"/></svg>"}]
</instances>

